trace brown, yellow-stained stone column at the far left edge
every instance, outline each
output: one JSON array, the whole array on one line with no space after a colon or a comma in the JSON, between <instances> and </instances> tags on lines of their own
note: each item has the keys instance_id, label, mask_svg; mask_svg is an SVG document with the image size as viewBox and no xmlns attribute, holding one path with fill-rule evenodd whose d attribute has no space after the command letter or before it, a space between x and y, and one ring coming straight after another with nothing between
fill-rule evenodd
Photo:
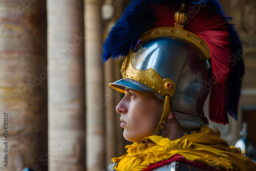
<instances>
[{"instance_id":1,"label":"brown, yellow-stained stone column at the far left edge","mask_svg":"<svg viewBox=\"0 0 256 171\"><path fill-rule=\"evenodd\" d=\"M0 170L48 170L46 1L1 1L0 19Z\"/></svg>"}]
</instances>

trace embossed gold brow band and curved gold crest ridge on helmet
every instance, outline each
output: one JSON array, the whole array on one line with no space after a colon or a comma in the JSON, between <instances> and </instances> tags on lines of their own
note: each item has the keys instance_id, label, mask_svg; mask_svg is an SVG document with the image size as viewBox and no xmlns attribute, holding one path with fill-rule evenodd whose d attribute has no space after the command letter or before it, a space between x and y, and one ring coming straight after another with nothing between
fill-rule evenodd
<instances>
[{"instance_id":1,"label":"embossed gold brow band and curved gold crest ridge on helmet","mask_svg":"<svg viewBox=\"0 0 256 171\"><path fill-rule=\"evenodd\" d=\"M182 28L159 27L152 29L142 34L142 36L140 37L141 44L154 38L164 36L180 37L188 40L203 52L204 55L200 55L201 59L210 58L210 50L205 41L196 34L191 33L187 30L183 30ZM138 47L140 47L140 45L138 45ZM125 57L121 69L123 78L130 78L138 81L145 86L155 90L163 97L165 95L173 97L176 85L172 79L162 79L162 77L152 68L144 71L135 68L138 63L143 61L143 53L145 50L145 48L140 47L137 52L130 51L129 55ZM133 65L135 65L135 67Z\"/></svg>"}]
</instances>

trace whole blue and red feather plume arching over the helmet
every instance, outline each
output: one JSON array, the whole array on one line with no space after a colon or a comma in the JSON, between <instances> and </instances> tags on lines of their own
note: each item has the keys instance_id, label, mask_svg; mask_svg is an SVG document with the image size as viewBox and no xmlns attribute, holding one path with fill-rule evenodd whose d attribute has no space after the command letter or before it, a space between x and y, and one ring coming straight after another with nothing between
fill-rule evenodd
<instances>
[{"instance_id":1,"label":"whole blue and red feather plume arching over the helmet","mask_svg":"<svg viewBox=\"0 0 256 171\"><path fill-rule=\"evenodd\" d=\"M227 113L237 119L244 62L241 41L228 23L216 0L133 0L112 28L103 45L104 61L126 56L142 33L156 27L174 27L174 13L186 4L188 21L184 29L201 37L211 52L212 85L209 101L210 120L226 124Z\"/></svg>"}]
</instances>

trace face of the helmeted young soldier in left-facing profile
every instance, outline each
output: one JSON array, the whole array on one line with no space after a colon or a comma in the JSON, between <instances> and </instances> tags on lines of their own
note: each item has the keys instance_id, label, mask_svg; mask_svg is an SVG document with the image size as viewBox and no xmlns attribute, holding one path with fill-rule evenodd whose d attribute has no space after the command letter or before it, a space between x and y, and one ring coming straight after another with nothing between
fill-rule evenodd
<instances>
[{"instance_id":1,"label":"face of the helmeted young soldier in left-facing profile","mask_svg":"<svg viewBox=\"0 0 256 171\"><path fill-rule=\"evenodd\" d=\"M153 92L140 92L125 88L125 96L116 106L121 114L121 127L125 139L138 142L153 135L163 112L164 101Z\"/></svg>"}]
</instances>

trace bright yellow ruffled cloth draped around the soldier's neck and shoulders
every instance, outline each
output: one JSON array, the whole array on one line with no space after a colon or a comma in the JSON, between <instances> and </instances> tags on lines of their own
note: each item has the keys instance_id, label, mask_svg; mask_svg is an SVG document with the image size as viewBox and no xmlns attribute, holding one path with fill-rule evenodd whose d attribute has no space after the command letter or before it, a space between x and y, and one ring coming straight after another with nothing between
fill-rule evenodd
<instances>
[{"instance_id":1,"label":"bright yellow ruffled cloth draped around the soldier's neck and shoulders","mask_svg":"<svg viewBox=\"0 0 256 171\"><path fill-rule=\"evenodd\" d=\"M126 145L127 154L113 158L113 170L143 170L179 154L187 160L201 162L217 170L256 170L256 163L242 156L241 150L229 146L220 138L220 131L202 126L200 132L184 134L170 141L161 136L145 137L137 143Z\"/></svg>"}]
</instances>

